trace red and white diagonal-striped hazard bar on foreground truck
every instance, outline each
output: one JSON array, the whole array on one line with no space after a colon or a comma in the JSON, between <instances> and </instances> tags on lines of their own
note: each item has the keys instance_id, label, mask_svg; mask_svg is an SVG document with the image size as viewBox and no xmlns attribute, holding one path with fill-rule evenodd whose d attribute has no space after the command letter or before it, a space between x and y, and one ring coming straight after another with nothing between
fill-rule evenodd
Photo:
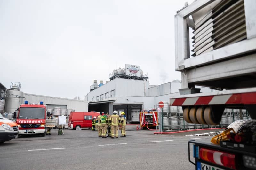
<instances>
[{"instance_id":1,"label":"red and white diagonal-striped hazard bar on foreground truck","mask_svg":"<svg viewBox=\"0 0 256 170\"><path fill-rule=\"evenodd\" d=\"M256 92L170 99L171 106L256 104Z\"/></svg>"}]
</instances>

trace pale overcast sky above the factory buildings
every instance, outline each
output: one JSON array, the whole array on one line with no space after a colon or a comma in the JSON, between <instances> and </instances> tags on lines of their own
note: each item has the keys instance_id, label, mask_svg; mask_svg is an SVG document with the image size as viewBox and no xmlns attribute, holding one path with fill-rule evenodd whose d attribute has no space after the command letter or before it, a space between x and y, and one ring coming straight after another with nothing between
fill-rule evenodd
<instances>
[{"instance_id":1,"label":"pale overcast sky above the factory buildings","mask_svg":"<svg viewBox=\"0 0 256 170\"><path fill-rule=\"evenodd\" d=\"M125 64L149 83L176 72L174 15L192 0L0 0L0 82L45 96L74 98Z\"/></svg>"}]
</instances>

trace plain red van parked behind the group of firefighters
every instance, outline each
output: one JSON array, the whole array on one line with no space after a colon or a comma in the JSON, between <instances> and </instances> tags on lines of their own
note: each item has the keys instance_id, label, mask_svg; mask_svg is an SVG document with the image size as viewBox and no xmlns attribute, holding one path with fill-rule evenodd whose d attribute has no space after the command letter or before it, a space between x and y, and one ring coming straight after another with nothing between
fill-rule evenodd
<instances>
[{"instance_id":1,"label":"plain red van parked behind the group of firefighters","mask_svg":"<svg viewBox=\"0 0 256 170\"><path fill-rule=\"evenodd\" d=\"M76 128L92 128L92 119L96 118L100 113L96 112L71 112L68 120L68 127Z\"/></svg>"}]
</instances>

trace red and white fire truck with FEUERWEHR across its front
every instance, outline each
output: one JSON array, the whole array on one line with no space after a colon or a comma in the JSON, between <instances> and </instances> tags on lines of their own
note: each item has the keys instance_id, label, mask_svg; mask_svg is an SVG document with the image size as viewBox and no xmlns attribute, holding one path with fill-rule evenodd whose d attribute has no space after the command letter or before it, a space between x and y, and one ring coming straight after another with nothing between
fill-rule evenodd
<instances>
[{"instance_id":1,"label":"red and white fire truck with FEUERWEHR across its front","mask_svg":"<svg viewBox=\"0 0 256 170\"><path fill-rule=\"evenodd\" d=\"M16 123L19 126L19 135L41 134L45 136L46 105L25 101L18 109Z\"/></svg>"}]
</instances>

